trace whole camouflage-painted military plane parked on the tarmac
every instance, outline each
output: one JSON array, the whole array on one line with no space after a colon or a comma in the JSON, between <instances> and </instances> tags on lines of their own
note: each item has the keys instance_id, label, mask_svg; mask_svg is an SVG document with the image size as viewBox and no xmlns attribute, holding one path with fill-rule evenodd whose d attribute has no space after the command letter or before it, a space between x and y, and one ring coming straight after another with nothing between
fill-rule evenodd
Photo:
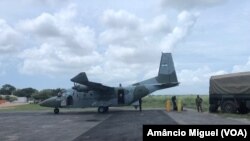
<instances>
[{"instance_id":1,"label":"whole camouflage-painted military plane parked on the tarmac","mask_svg":"<svg viewBox=\"0 0 250 141\"><path fill-rule=\"evenodd\" d=\"M55 114L59 113L59 108L98 107L99 113L105 113L109 107L127 105L139 106L141 111L141 98L179 84L171 53L162 53L158 76L126 87L109 87L91 82L85 72L79 73L71 81L74 82L72 89L62 91L40 105L54 108Z\"/></svg>"}]
</instances>

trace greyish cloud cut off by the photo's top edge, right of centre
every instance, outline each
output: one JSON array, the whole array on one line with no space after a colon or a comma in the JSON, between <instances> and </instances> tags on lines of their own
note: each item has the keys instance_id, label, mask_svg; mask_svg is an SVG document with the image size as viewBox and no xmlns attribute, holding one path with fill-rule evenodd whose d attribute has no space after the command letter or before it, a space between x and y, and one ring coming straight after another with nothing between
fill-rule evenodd
<instances>
[{"instance_id":1,"label":"greyish cloud cut off by the photo's top edge, right of centre","mask_svg":"<svg viewBox=\"0 0 250 141\"><path fill-rule=\"evenodd\" d=\"M162 5L167 8L187 10L192 8L205 8L224 3L226 0L162 0Z\"/></svg>"}]
</instances>

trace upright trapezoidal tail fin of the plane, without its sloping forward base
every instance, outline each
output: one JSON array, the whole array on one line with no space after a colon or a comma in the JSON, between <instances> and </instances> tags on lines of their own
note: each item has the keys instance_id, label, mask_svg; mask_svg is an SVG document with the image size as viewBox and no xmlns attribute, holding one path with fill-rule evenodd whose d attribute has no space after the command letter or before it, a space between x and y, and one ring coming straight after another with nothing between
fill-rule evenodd
<instances>
[{"instance_id":1,"label":"upright trapezoidal tail fin of the plane, without its sloping forward base","mask_svg":"<svg viewBox=\"0 0 250 141\"><path fill-rule=\"evenodd\" d=\"M171 53L162 53L156 80L158 83L178 83Z\"/></svg>"}]
</instances>

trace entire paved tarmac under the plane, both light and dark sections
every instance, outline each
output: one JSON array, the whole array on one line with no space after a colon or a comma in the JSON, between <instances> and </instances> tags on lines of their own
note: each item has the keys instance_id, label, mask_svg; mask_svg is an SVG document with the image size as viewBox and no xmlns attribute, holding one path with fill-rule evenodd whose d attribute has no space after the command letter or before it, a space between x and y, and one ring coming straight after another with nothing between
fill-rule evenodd
<instances>
[{"instance_id":1,"label":"entire paved tarmac under the plane, both light and dark sections","mask_svg":"<svg viewBox=\"0 0 250 141\"><path fill-rule=\"evenodd\" d=\"M163 110L0 113L0 141L142 140L143 124L176 124Z\"/></svg>"}]
</instances>

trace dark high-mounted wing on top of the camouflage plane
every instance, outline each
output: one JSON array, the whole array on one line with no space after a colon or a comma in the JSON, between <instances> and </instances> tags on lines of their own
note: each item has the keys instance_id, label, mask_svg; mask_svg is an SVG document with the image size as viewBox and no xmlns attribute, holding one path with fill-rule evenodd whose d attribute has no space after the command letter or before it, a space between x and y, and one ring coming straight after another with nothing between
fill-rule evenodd
<instances>
[{"instance_id":1,"label":"dark high-mounted wing on top of the camouflage plane","mask_svg":"<svg viewBox=\"0 0 250 141\"><path fill-rule=\"evenodd\" d=\"M79 84L85 85L89 89L95 90L95 91L113 90L113 87L109 87L109 86L102 85L101 83L96 83L96 82L89 81L85 72L79 73L78 75L73 77L71 79L71 81L74 82L74 83L79 83Z\"/></svg>"}]
</instances>

